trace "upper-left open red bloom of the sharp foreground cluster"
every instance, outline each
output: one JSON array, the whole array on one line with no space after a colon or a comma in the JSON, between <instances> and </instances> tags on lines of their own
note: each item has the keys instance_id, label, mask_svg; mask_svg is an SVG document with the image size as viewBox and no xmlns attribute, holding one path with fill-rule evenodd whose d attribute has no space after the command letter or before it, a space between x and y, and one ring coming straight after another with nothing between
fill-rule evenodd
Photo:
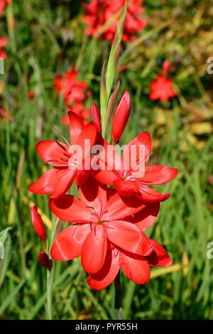
<instances>
[{"instance_id":1,"label":"upper-left open red bloom of the sharp foreground cluster","mask_svg":"<svg viewBox=\"0 0 213 334\"><path fill-rule=\"evenodd\" d=\"M59 198L67 193L74 180L77 185L80 185L89 175L87 167L90 163L91 147L97 138L96 126L92 122L84 126L82 119L75 112L68 114L70 117L70 146L60 141L40 141L37 144L40 158L54 168L29 186L28 190L32 193L41 195L50 193L51 198ZM84 147L85 139L89 140L86 147ZM76 144L82 148L81 152L75 151Z\"/></svg>"}]
</instances>

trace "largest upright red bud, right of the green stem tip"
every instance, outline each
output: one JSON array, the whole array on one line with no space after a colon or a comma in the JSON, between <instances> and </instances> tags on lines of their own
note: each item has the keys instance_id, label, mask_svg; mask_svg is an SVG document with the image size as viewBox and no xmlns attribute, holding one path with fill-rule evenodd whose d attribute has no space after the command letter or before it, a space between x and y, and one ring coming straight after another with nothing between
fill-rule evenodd
<instances>
[{"instance_id":1,"label":"largest upright red bud, right of the green stem tip","mask_svg":"<svg viewBox=\"0 0 213 334\"><path fill-rule=\"evenodd\" d=\"M114 117L111 126L111 138L113 144L119 142L121 134L123 134L126 123L129 119L130 111L131 111L131 98L129 96L129 92L125 90L121 96L119 104L116 107L116 111L114 112Z\"/></svg>"}]
</instances>

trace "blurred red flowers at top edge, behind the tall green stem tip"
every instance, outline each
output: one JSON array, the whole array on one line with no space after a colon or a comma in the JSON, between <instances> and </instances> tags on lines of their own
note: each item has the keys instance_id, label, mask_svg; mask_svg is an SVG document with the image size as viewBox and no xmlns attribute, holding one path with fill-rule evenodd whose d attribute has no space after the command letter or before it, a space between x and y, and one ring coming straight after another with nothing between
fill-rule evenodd
<instances>
[{"instance_id":1,"label":"blurred red flowers at top edge, behind the tall green stem tip","mask_svg":"<svg viewBox=\"0 0 213 334\"><path fill-rule=\"evenodd\" d=\"M85 35L92 35L96 38L97 33L104 23L107 23L124 6L125 0L92 0L90 4L84 4L86 14L84 21L88 24L85 29ZM128 11L126 14L126 23L124 26L123 41L131 41L146 26L146 20L141 17L144 9L141 7L143 0L129 0ZM102 38L112 41L116 32L119 18L116 18L104 31Z\"/></svg>"}]
</instances>

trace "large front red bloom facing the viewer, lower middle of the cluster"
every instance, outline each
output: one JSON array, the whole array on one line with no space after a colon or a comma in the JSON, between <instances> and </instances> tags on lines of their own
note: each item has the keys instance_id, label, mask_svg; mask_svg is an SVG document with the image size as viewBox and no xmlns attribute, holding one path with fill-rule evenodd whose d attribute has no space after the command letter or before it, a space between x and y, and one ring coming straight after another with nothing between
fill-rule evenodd
<instances>
[{"instance_id":1,"label":"large front red bloom facing the viewer, lower middle of the cluster","mask_svg":"<svg viewBox=\"0 0 213 334\"><path fill-rule=\"evenodd\" d=\"M50 200L50 209L61 220L74 223L60 232L53 243L50 254L56 261L81 256L84 270L95 274L114 247L141 256L153 251L139 223L131 223L131 215L140 211L141 219L151 225L159 205L146 206L131 198L121 198L114 189L98 184L92 177L80 187L80 198L65 195Z\"/></svg>"}]
</instances>

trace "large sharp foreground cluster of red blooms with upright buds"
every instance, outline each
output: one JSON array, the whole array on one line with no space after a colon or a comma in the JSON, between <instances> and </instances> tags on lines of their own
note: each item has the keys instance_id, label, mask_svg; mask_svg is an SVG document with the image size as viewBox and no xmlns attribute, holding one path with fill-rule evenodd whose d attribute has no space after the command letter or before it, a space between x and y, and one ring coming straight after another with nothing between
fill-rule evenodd
<instances>
[{"instance_id":1,"label":"large sharp foreground cluster of red blooms with upright buds","mask_svg":"<svg viewBox=\"0 0 213 334\"><path fill-rule=\"evenodd\" d=\"M119 142L130 109L129 93L124 92L112 121L113 144ZM33 183L29 190L36 194L50 193L50 210L60 220L70 224L58 234L50 250L55 261L81 257L82 266L89 273L87 283L92 289L107 287L114 281L119 269L136 284L145 284L150 278L151 266L172 263L165 249L149 239L144 231L153 225L160 202L169 197L169 193L158 193L153 185L173 180L178 170L147 165L151 153L151 136L147 132L139 134L126 146L119 169L115 163L112 163L112 168L107 168L111 164L111 155L105 155L103 152L106 151L96 156L90 154L94 144L102 144L104 148L110 146L102 138L96 104L93 104L91 112L93 122L87 125L75 112L68 112L70 143L38 143L40 158L53 168ZM86 139L90 145L85 147L83 143ZM75 152L76 145L82 147L82 154ZM136 166L126 167L131 146L136 146L138 169ZM142 151L140 146L143 146ZM114 145L111 148L114 156ZM92 168L94 162L101 167L97 171ZM84 168L79 168L83 165ZM143 173L139 173L141 166ZM80 198L67 194L74 181Z\"/></svg>"}]
</instances>

